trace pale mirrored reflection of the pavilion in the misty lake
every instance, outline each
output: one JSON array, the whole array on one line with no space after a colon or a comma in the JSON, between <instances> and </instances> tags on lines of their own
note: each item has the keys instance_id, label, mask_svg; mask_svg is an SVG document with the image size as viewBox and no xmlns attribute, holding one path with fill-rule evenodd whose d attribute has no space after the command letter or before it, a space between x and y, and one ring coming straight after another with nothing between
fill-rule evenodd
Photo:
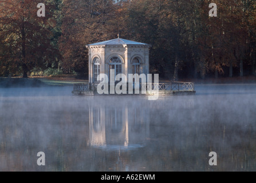
<instances>
[{"instance_id":1,"label":"pale mirrored reflection of the pavilion in the misty lake","mask_svg":"<svg viewBox=\"0 0 256 183\"><path fill-rule=\"evenodd\" d=\"M91 106L89 132L90 146L108 150L138 148L149 137L149 114L127 105Z\"/></svg>"}]
</instances>

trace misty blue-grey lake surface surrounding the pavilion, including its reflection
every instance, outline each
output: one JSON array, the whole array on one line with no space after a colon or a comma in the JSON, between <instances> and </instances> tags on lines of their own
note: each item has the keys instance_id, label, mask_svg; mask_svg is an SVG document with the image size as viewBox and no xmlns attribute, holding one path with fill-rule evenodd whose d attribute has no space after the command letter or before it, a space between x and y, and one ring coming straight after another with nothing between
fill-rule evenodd
<instances>
[{"instance_id":1,"label":"misty blue-grey lake surface surrounding the pavilion, including its reflection","mask_svg":"<svg viewBox=\"0 0 256 183\"><path fill-rule=\"evenodd\" d=\"M0 171L256 170L256 85L157 101L72 89L0 89Z\"/></svg>"}]
</instances>

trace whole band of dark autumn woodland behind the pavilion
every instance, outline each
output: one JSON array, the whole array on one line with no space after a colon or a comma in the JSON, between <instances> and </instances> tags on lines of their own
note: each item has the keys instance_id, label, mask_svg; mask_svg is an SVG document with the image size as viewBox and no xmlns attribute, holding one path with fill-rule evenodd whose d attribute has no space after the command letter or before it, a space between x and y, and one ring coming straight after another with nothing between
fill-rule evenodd
<instances>
[{"instance_id":1,"label":"whole band of dark autumn woodland behind the pavilion","mask_svg":"<svg viewBox=\"0 0 256 183\"><path fill-rule=\"evenodd\" d=\"M0 75L34 67L88 74L86 45L117 38L150 43L160 77L233 77L255 73L254 0L31 0L0 2ZM209 17L210 3L218 16Z\"/></svg>"}]
</instances>

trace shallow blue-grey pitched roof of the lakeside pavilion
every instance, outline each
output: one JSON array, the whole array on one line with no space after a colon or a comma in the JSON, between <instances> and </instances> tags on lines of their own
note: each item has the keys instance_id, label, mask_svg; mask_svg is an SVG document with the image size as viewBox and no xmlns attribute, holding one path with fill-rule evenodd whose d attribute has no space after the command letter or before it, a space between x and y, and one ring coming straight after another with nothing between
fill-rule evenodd
<instances>
[{"instance_id":1,"label":"shallow blue-grey pitched roof of the lakeside pavilion","mask_svg":"<svg viewBox=\"0 0 256 183\"><path fill-rule=\"evenodd\" d=\"M146 43L130 41L130 40L121 39L121 38L111 39L103 42L97 42L97 43L90 44L88 46L97 46L97 45L141 45L141 46L148 45L149 46L149 44L146 44Z\"/></svg>"}]
</instances>

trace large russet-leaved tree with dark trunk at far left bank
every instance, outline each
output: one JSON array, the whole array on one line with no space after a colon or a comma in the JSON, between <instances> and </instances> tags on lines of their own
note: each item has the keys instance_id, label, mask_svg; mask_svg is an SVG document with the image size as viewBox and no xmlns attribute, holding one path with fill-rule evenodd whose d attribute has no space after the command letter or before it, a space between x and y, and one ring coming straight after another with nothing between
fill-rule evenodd
<instances>
[{"instance_id":1,"label":"large russet-leaved tree with dark trunk at far left bank","mask_svg":"<svg viewBox=\"0 0 256 183\"><path fill-rule=\"evenodd\" d=\"M46 4L46 17L37 17L37 2L33 0L2 0L0 2L0 41L2 69L21 68L23 77L35 66L56 60L58 50L51 44L54 21Z\"/></svg>"}]
</instances>

